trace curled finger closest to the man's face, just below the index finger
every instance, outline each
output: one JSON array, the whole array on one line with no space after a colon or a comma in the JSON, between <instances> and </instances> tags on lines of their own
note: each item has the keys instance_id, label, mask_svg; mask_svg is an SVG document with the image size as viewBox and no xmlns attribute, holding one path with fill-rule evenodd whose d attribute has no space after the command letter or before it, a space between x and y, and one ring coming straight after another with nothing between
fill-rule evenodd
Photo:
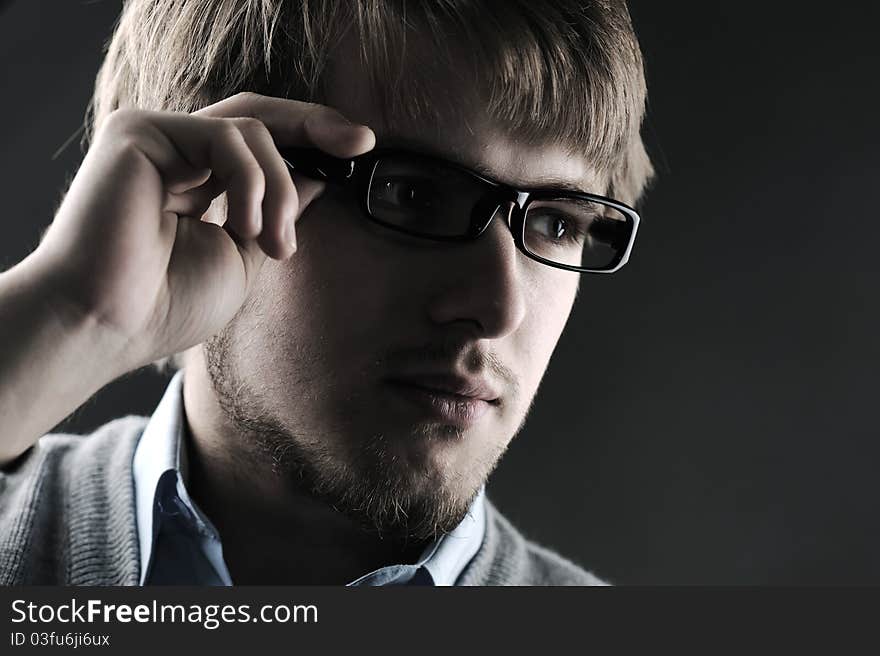
<instances>
[{"instance_id":1,"label":"curled finger closest to the man's face, just below the index finger","mask_svg":"<svg viewBox=\"0 0 880 656\"><path fill-rule=\"evenodd\" d=\"M263 228L257 241L269 257L285 259L296 251L295 221L300 206L297 189L266 126L255 118L230 120L244 136L266 181L261 206Z\"/></svg>"}]
</instances>

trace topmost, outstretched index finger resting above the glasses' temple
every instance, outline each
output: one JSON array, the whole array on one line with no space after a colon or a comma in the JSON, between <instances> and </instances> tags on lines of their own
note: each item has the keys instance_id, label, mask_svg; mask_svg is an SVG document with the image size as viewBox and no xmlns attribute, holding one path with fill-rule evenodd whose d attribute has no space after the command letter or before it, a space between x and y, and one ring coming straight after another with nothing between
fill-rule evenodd
<instances>
[{"instance_id":1,"label":"topmost, outstretched index finger resting above the glasses' temple","mask_svg":"<svg viewBox=\"0 0 880 656\"><path fill-rule=\"evenodd\" d=\"M351 123L331 107L288 98L240 93L194 115L256 118L279 146L314 146L336 157L355 157L376 145L367 126Z\"/></svg>"}]
</instances>

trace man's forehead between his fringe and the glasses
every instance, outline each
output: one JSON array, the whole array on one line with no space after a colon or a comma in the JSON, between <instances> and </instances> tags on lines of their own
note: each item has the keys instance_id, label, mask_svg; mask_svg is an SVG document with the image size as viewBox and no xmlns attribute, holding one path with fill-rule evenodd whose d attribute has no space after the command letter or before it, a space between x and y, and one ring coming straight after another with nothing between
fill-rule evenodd
<instances>
[{"instance_id":1,"label":"man's forehead between his fringe and the glasses","mask_svg":"<svg viewBox=\"0 0 880 656\"><path fill-rule=\"evenodd\" d=\"M348 48L343 47L341 52ZM349 52L351 52L349 50ZM377 146L402 147L456 162L515 187L563 187L603 194L605 176L571 144L518 138L485 110L474 78L435 70L418 91L404 78L396 93L419 93L422 111L393 112L375 92L356 51L338 56L325 78L325 102L369 126ZM427 92L427 93L426 93Z\"/></svg>"}]
</instances>

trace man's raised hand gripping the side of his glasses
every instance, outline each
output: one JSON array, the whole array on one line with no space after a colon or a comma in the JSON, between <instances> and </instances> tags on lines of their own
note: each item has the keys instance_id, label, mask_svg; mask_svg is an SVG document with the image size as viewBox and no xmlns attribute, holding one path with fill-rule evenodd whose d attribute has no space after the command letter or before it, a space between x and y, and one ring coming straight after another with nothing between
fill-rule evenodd
<instances>
[{"instance_id":1,"label":"man's raised hand gripping the side of his glasses","mask_svg":"<svg viewBox=\"0 0 880 656\"><path fill-rule=\"evenodd\" d=\"M266 258L294 253L323 186L294 180L276 144L352 157L375 136L328 107L250 93L193 114L118 110L97 132L29 259L62 305L127 345L122 370L217 333ZM224 192L228 211L206 215Z\"/></svg>"}]
</instances>

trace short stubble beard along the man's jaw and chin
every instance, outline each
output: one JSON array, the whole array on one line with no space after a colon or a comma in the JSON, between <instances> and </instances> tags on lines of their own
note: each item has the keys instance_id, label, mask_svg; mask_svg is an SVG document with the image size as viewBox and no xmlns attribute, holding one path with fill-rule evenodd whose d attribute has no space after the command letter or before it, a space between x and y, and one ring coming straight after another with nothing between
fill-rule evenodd
<instances>
[{"instance_id":1,"label":"short stubble beard along the man's jaw and chin","mask_svg":"<svg viewBox=\"0 0 880 656\"><path fill-rule=\"evenodd\" d=\"M323 502L365 532L402 548L452 531L506 450L506 442L498 445L466 475L413 468L401 460L391 438L378 432L367 432L361 439L298 434L267 411L238 375L230 357L233 343L227 327L204 344L214 393L237 429L232 438L236 444L230 446L250 456L257 475L271 472L292 491ZM426 430L414 439L456 439L450 432L450 427Z\"/></svg>"}]
</instances>

